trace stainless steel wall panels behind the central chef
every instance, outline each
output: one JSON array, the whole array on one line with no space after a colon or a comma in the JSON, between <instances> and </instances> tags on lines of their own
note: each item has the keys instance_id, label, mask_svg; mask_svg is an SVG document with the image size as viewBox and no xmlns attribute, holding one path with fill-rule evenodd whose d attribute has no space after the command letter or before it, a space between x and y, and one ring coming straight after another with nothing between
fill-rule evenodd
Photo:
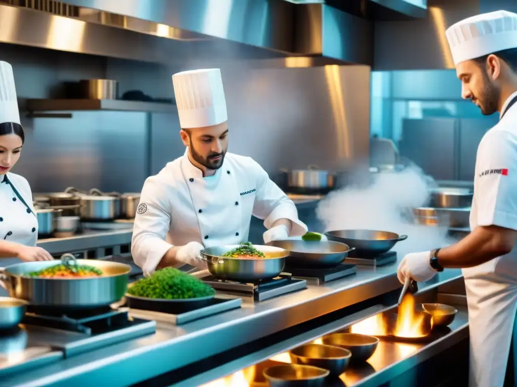
<instances>
[{"instance_id":1,"label":"stainless steel wall panels behind the central chef","mask_svg":"<svg viewBox=\"0 0 517 387\"><path fill-rule=\"evenodd\" d=\"M368 165L370 68L256 69L245 62L174 67L0 45L19 98L60 95L61 82L117 79L120 94L173 96L171 75L221 67L229 110L229 151L253 157L270 175L281 168L344 170ZM36 55L37 54L37 55ZM23 114L22 114L23 116ZM98 187L140 191L145 178L184 152L177 114L74 111L71 119L23 118L26 143L13 172L34 192Z\"/></svg>"}]
</instances>

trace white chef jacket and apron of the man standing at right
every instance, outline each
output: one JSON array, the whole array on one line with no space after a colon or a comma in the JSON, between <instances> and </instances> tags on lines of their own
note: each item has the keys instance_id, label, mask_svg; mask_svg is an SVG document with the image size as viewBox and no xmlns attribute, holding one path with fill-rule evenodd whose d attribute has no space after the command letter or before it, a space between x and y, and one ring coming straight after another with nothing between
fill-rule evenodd
<instances>
[{"instance_id":1,"label":"white chef jacket and apron of the man standing at right","mask_svg":"<svg viewBox=\"0 0 517 387\"><path fill-rule=\"evenodd\" d=\"M503 112L514 93L506 101ZM517 230L517 104L482 138L476 157L470 229ZM502 387L517 311L517 250L463 269L470 331L469 385Z\"/></svg>"}]
</instances>

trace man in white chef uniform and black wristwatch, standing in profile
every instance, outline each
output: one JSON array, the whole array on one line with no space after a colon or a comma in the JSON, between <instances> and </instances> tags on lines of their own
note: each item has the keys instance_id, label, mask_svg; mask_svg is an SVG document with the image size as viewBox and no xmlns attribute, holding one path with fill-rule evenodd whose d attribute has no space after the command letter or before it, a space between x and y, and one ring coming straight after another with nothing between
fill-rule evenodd
<instances>
[{"instance_id":1,"label":"man in white chef uniform and black wristwatch, standing in profile","mask_svg":"<svg viewBox=\"0 0 517 387\"><path fill-rule=\"evenodd\" d=\"M398 276L428 281L463 268L470 330L469 385L504 384L517 311L517 14L497 11L446 31L462 96L499 122L481 140L470 211L472 232L442 249L407 254ZM513 384L513 382L512 382Z\"/></svg>"}]
</instances>

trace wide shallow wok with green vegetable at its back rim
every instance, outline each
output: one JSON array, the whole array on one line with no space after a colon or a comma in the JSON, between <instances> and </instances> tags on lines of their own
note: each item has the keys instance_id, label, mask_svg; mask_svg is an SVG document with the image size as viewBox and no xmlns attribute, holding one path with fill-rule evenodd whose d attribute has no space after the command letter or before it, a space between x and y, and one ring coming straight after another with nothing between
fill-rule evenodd
<instances>
[{"instance_id":1,"label":"wide shallow wok with green vegetable at its back rim","mask_svg":"<svg viewBox=\"0 0 517 387\"><path fill-rule=\"evenodd\" d=\"M291 267L333 267L343 262L348 252L355 250L336 241L305 241L297 239L272 240L267 246L287 250L287 265Z\"/></svg>"}]
</instances>

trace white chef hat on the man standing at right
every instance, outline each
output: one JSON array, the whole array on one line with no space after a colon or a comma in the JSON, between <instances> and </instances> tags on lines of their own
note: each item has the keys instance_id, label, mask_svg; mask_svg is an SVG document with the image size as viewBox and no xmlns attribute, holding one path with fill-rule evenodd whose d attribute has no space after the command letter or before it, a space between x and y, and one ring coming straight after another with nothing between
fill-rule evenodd
<instances>
[{"instance_id":1,"label":"white chef hat on the man standing at right","mask_svg":"<svg viewBox=\"0 0 517 387\"><path fill-rule=\"evenodd\" d=\"M453 24L445 31L454 65L517 47L517 14L482 13Z\"/></svg>"}]
</instances>

